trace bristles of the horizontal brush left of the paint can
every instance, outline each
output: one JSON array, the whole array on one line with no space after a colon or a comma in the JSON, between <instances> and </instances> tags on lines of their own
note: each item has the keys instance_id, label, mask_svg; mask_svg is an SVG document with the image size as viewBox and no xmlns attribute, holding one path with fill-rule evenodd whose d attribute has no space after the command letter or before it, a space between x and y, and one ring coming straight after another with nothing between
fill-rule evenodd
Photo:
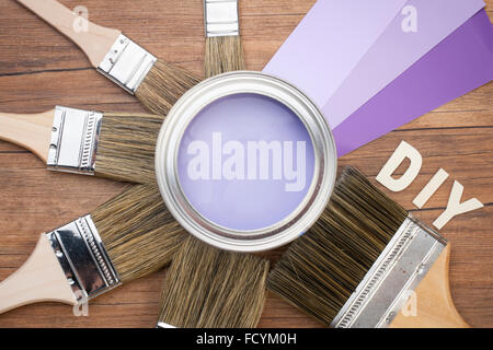
<instances>
[{"instance_id":1,"label":"bristles of the horizontal brush left of the paint can","mask_svg":"<svg viewBox=\"0 0 493 350\"><path fill-rule=\"evenodd\" d=\"M156 142L163 119L159 115L104 114L95 174L115 180L154 183Z\"/></svg>"}]
</instances>

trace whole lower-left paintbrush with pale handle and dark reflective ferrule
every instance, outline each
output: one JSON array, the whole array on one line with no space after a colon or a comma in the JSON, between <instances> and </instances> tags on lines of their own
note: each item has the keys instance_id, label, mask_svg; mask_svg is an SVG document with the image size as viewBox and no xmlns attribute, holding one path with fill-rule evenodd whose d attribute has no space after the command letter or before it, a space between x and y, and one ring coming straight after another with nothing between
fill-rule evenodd
<instances>
[{"instance_id":1,"label":"whole lower-left paintbrush with pale handle and dark reflective ferrule","mask_svg":"<svg viewBox=\"0 0 493 350\"><path fill-rule=\"evenodd\" d=\"M0 313L44 301L84 303L162 268L184 237L159 190L134 185L90 214L43 233L27 261L0 283Z\"/></svg>"}]
</instances>

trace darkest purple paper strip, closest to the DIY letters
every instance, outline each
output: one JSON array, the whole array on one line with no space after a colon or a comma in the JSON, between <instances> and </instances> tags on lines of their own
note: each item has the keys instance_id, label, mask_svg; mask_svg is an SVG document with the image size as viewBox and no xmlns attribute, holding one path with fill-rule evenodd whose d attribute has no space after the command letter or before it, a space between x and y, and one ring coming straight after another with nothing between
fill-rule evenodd
<instances>
[{"instance_id":1,"label":"darkest purple paper strip, closest to the DIY letters","mask_svg":"<svg viewBox=\"0 0 493 350\"><path fill-rule=\"evenodd\" d=\"M493 79L493 26L477 13L334 130L342 156Z\"/></svg>"}]
</instances>

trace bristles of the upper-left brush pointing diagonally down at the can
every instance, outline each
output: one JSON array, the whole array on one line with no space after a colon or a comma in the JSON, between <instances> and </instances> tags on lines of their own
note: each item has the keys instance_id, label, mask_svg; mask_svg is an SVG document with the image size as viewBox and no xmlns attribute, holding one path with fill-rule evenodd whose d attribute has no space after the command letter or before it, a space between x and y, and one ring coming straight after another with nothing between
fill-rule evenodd
<instances>
[{"instance_id":1,"label":"bristles of the upper-left brush pointing diagonally down at the can","mask_svg":"<svg viewBox=\"0 0 493 350\"><path fill-rule=\"evenodd\" d=\"M174 103L198 82L186 70L158 60L135 95L149 112L165 116Z\"/></svg>"}]
</instances>

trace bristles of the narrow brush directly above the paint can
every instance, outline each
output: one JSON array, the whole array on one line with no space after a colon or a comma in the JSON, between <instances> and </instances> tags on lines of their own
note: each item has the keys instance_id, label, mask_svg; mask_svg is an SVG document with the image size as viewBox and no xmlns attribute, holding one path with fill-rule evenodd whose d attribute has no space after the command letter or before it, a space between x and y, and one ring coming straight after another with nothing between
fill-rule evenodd
<instances>
[{"instance_id":1,"label":"bristles of the narrow brush directly above the paint can","mask_svg":"<svg viewBox=\"0 0 493 350\"><path fill-rule=\"evenodd\" d=\"M207 37L204 65L206 78L245 69L240 36Z\"/></svg>"}]
</instances>

